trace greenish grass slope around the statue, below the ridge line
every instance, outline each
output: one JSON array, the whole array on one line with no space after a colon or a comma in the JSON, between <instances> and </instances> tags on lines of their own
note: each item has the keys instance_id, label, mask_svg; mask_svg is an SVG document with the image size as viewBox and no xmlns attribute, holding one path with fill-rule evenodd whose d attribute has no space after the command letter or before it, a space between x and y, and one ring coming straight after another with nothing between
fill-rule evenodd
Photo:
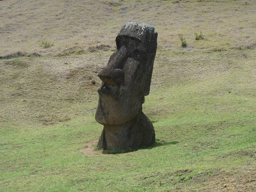
<instances>
[{"instance_id":1,"label":"greenish grass slope around the statue, below the ridge line","mask_svg":"<svg viewBox=\"0 0 256 192\"><path fill-rule=\"evenodd\" d=\"M84 73L103 61L90 66L94 78L111 53L0 61L9 71L1 75L1 191L197 191L208 189L198 178L256 166L255 50L158 52L143 111L161 145L85 157L79 149L102 125L94 120L100 81L90 85Z\"/></svg>"}]
</instances>

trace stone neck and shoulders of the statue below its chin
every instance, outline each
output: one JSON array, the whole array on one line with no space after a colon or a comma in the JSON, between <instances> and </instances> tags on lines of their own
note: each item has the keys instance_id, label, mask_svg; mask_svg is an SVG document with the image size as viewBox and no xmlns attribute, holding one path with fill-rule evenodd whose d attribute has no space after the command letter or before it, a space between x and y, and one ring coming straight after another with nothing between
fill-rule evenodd
<instances>
[{"instance_id":1,"label":"stone neck and shoulders of the statue below its chin","mask_svg":"<svg viewBox=\"0 0 256 192\"><path fill-rule=\"evenodd\" d=\"M104 125L98 149L121 150L150 146L155 141L154 127L143 112L121 125Z\"/></svg>"}]
</instances>

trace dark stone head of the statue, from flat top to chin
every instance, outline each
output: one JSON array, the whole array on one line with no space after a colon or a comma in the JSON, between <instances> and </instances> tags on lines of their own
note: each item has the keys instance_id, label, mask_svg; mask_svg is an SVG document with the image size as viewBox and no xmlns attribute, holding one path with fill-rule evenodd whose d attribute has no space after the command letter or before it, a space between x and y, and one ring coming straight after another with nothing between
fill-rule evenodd
<instances>
[{"instance_id":1,"label":"dark stone head of the statue, from flat top to chin","mask_svg":"<svg viewBox=\"0 0 256 192\"><path fill-rule=\"evenodd\" d=\"M148 24L126 23L116 36L116 51L98 76L99 104L95 119L103 125L120 125L142 111L149 94L157 32Z\"/></svg>"}]
</instances>

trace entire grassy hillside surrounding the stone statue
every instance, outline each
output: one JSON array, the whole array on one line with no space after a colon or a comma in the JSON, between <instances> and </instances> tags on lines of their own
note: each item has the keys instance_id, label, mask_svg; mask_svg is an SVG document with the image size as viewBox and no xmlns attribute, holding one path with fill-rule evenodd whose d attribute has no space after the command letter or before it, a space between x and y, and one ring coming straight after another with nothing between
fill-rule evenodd
<instances>
[{"instance_id":1,"label":"entire grassy hillside surrounding the stone statue","mask_svg":"<svg viewBox=\"0 0 256 192\"><path fill-rule=\"evenodd\" d=\"M256 190L253 0L0 5L0 56L15 57L0 59L0 191ZM159 33L143 104L157 141L102 154L93 151L102 131L94 119L97 73L126 21ZM196 41L200 31L204 40ZM54 45L44 49L41 41Z\"/></svg>"}]
</instances>

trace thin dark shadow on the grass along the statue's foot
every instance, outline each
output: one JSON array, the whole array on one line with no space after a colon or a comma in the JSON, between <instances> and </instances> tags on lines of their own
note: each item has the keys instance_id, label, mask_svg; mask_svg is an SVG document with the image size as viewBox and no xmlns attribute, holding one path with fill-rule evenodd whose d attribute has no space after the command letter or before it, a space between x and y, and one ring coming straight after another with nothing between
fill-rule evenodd
<instances>
[{"instance_id":1,"label":"thin dark shadow on the grass along the statue's foot","mask_svg":"<svg viewBox=\"0 0 256 192\"><path fill-rule=\"evenodd\" d=\"M165 146L165 145L175 145L177 143L179 143L179 142L178 141L166 142L164 140L156 139L153 145L150 145L147 147L142 146L140 148L124 148L121 150L103 150L102 153L103 154L122 154L122 153L129 153L129 152L134 152L134 151L138 151L138 150L143 150L143 149L152 149L152 148Z\"/></svg>"}]
</instances>

